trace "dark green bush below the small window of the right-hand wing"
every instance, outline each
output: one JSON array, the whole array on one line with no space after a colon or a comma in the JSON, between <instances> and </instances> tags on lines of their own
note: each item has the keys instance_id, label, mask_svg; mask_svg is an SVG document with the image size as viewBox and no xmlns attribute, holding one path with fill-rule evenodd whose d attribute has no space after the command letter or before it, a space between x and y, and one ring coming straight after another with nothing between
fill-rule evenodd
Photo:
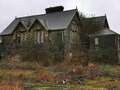
<instances>
[{"instance_id":1,"label":"dark green bush below the small window of the right-hand wing","mask_svg":"<svg viewBox=\"0 0 120 90\"><path fill-rule=\"evenodd\" d=\"M91 49L88 55L90 57L90 62L106 64L115 64L118 62L115 49Z\"/></svg>"}]
</instances>

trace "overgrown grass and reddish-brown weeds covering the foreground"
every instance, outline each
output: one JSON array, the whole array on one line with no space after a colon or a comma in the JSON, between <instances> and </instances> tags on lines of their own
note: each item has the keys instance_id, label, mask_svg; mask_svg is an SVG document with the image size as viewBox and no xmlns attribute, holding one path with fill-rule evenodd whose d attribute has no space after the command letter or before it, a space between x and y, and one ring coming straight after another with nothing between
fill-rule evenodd
<instances>
[{"instance_id":1,"label":"overgrown grass and reddish-brown weeds covering the foreground","mask_svg":"<svg viewBox=\"0 0 120 90\"><path fill-rule=\"evenodd\" d=\"M119 77L120 76L120 66L117 65L88 65L86 68L84 67L72 67L66 69L66 71L61 72L62 70L54 70L56 67L40 67L40 66L35 66L35 64L28 62L25 63L18 63L16 64L20 68L13 68L13 69L8 69L8 68L2 68L0 69L0 81L6 80L6 81L17 81L21 80L24 83L40 83L40 84L50 84L51 86L45 86L45 87L33 87L33 90L120 90L120 81L117 79L114 79L114 77ZM64 66L64 65L63 65ZM28 67L28 68L26 68ZM30 69L31 67L31 69ZM26 68L26 69L24 69ZM59 68L62 68L59 66ZM95 68L95 69L94 69ZM91 74L92 70L92 74ZM96 70L96 72L93 72ZM90 73L89 73L90 72ZM92 75L94 77L94 74L96 73L102 73L101 76L95 77L93 79L88 79L86 77L85 81L83 81L81 84L73 83L74 80L70 78L70 83L66 84L61 84L61 83L56 83L55 80L61 80L61 79L69 79L67 76L71 75L72 78L76 78L77 76L81 76L84 74L88 74L88 76ZM62 74L60 74L62 73ZM56 77L56 75L58 76ZM63 76L62 76L63 75ZM64 76L65 75L65 76ZM56 79L55 79L56 77ZM78 78L79 79L79 78ZM77 79L77 81L78 81ZM81 80L81 79L80 79ZM53 87L53 84L57 85L63 85L58 86L58 87ZM29 89L28 89L29 90Z\"/></svg>"}]
</instances>

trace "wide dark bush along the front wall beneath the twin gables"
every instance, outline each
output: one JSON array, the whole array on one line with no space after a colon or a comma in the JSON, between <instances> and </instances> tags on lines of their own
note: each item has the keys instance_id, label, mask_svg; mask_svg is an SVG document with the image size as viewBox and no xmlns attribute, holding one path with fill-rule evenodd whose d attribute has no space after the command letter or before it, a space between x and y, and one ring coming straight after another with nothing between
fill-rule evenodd
<instances>
[{"instance_id":1,"label":"wide dark bush along the front wall beneath the twin gables","mask_svg":"<svg viewBox=\"0 0 120 90\"><path fill-rule=\"evenodd\" d=\"M57 46L49 47L46 44L34 44L31 41L26 41L14 48L7 48L6 52L10 57L20 56L23 62L36 62L44 66L57 64L63 59L63 53L59 52Z\"/></svg>"}]
</instances>

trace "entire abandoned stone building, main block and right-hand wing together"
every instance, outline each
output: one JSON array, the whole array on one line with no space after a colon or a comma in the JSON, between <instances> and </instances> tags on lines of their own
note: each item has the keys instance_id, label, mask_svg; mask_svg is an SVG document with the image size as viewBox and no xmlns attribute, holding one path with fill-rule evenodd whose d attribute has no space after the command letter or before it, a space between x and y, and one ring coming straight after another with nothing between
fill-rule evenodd
<instances>
[{"instance_id":1,"label":"entire abandoned stone building, main block and right-hand wing together","mask_svg":"<svg viewBox=\"0 0 120 90\"><path fill-rule=\"evenodd\" d=\"M119 60L120 37L110 30L106 16L81 21L77 9L64 11L63 6L57 6L45 10L46 14L15 18L1 33L2 44L6 48L22 45L26 41L53 48L57 45L64 59L79 59L83 48L88 51L108 48L114 49L112 59ZM87 30L92 20L99 22L99 30Z\"/></svg>"}]
</instances>

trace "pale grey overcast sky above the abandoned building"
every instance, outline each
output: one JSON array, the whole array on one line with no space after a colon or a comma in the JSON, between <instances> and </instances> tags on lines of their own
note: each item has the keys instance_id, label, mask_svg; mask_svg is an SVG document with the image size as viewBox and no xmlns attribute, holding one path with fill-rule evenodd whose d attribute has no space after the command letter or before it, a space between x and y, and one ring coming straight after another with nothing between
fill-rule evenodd
<instances>
[{"instance_id":1,"label":"pale grey overcast sky above the abandoned building","mask_svg":"<svg viewBox=\"0 0 120 90\"><path fill-rule=\"evenodd\" d=\"M90 16L107 15L112 30L120 33L120 0L0 0L0 31L15 17L45 13L45 8L63 5Z\"/></svg>"}]
</instances>

